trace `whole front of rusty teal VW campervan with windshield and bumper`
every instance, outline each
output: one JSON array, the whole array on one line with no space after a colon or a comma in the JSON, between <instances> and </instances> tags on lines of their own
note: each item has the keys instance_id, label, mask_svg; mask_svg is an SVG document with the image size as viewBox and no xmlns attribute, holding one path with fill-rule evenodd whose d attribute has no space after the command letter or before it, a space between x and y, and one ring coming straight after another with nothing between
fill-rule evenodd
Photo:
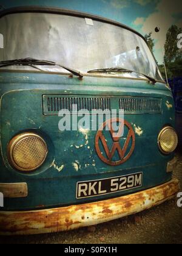
<instances>
[{"instance_id":1,"label":"whole front of rusty teal VW campervan with windshield and bumper","mask_svg":"<svg viewBox=\"0 0 182 256\"><path fill-rule=\"evenodd\" d=\"M99 16L0 12L0 234L59 232L175 196L175 108L145 38Z\"/></svg>"}]
</instances>

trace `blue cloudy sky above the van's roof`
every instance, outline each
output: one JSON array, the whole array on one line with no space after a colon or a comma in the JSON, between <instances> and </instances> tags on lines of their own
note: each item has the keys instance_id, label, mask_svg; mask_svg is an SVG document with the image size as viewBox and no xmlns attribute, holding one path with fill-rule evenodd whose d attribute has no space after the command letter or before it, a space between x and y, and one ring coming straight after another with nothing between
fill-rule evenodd
<instances>
[{"instance_id":1,"label":"blue cloudy sky above the van's roof","mask_svg":"<svg viewBox=\"0 0 182 256\"><path fill-rule=\"evenodd\" d=\"M182 27L180 0L0 0L4 8L20 5L47 5L79 10L104 16L126 24L142 35L152 32L155 39L155 57L163 62L166 32L172 24ZM155 32L155 27L160 32Z\"/></svg>"}]
</instances>

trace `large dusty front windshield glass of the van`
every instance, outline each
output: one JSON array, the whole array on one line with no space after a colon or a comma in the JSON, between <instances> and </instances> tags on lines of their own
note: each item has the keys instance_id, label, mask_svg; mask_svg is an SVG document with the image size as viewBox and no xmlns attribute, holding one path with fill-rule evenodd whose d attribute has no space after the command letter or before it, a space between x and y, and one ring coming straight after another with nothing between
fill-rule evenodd
<instances>
[{"instance_id":1,"label":"large dusty front windshield glass of the van","mask_svg":"<svg viewBox=\"0 0 182 256\"><path fill-rule=\"evenodd\" d=\"M31 57L61 63L82 73L119 66L162 80L143 38L120 26L53 13L15 13L1 18L0 34L0 61ZM67 72L58 66L41 69Z\"/></svg>"}]
</instances>

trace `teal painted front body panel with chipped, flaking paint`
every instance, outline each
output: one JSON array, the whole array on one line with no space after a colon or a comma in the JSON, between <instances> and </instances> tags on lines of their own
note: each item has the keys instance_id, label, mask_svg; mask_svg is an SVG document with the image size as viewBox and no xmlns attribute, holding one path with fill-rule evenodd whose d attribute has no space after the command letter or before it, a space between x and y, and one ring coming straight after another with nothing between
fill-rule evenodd
<instances>
[{"instance_id":1,"label":"teal painted front body panel with chipped, flaking paint","mask_svg":"<svg viewBox=\"0 0 182 256\"><path fill-rule=\"evenodd\" d=\"M30 210L93 202L122 196L155 187L171 179L167 163L173 154L163 155L158 148L158 134L165 125L174 127L174 100L163 83L118 77L84 76L71 78L67 74L2 72L1 90L1 172L0 182L27 182L28 197L5 199L3 210ZM133 154L119 166L102 162L95 151L96 131L64 131L58 129L59 116L43 115L42 96L111 96L112 108L118 109L121 96L141 96L162 99L161 114L128 114L124 119L135 130ZM49 154L36 171L25 173L13 169L7 160L7 145L11 138L33 131L47 143ZM76 167L75 167L76 166ZM104 196L76 199L76 182L98 180L143 172L143 187Z\"/></svg>"}]
</instances>

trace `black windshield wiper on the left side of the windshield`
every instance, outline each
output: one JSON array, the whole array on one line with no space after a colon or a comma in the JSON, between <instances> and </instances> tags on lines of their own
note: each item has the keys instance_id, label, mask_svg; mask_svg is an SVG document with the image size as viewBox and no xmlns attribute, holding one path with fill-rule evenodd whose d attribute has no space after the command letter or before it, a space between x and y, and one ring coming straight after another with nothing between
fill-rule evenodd
<instances>
[{"instance_id":1,"label":"black windshield wiper on the left side of the windshield","mask_svg":"<svg viewBox=\"0 0 182 256\"><path fill-rule=\"evenodd\" d=\"M13 65L21 65L21 66L32 66L33 68L37 68L35 65L38 66L60 66L61 68L66 69L70 73L74 74L75 76L78 76L79 78L83 78L83 74L81 74L79 71L68 68L67 66L60 65L59 63L56 62L51 62L49 60L37 60L37 59L32 59L32 58L25 58L25 59L16 59L16 60L5 60L0 62L0 68L4 68L5 66L13 66ZM42 71L42 69L39 69Z\"/></svg>"}]
</instances>

